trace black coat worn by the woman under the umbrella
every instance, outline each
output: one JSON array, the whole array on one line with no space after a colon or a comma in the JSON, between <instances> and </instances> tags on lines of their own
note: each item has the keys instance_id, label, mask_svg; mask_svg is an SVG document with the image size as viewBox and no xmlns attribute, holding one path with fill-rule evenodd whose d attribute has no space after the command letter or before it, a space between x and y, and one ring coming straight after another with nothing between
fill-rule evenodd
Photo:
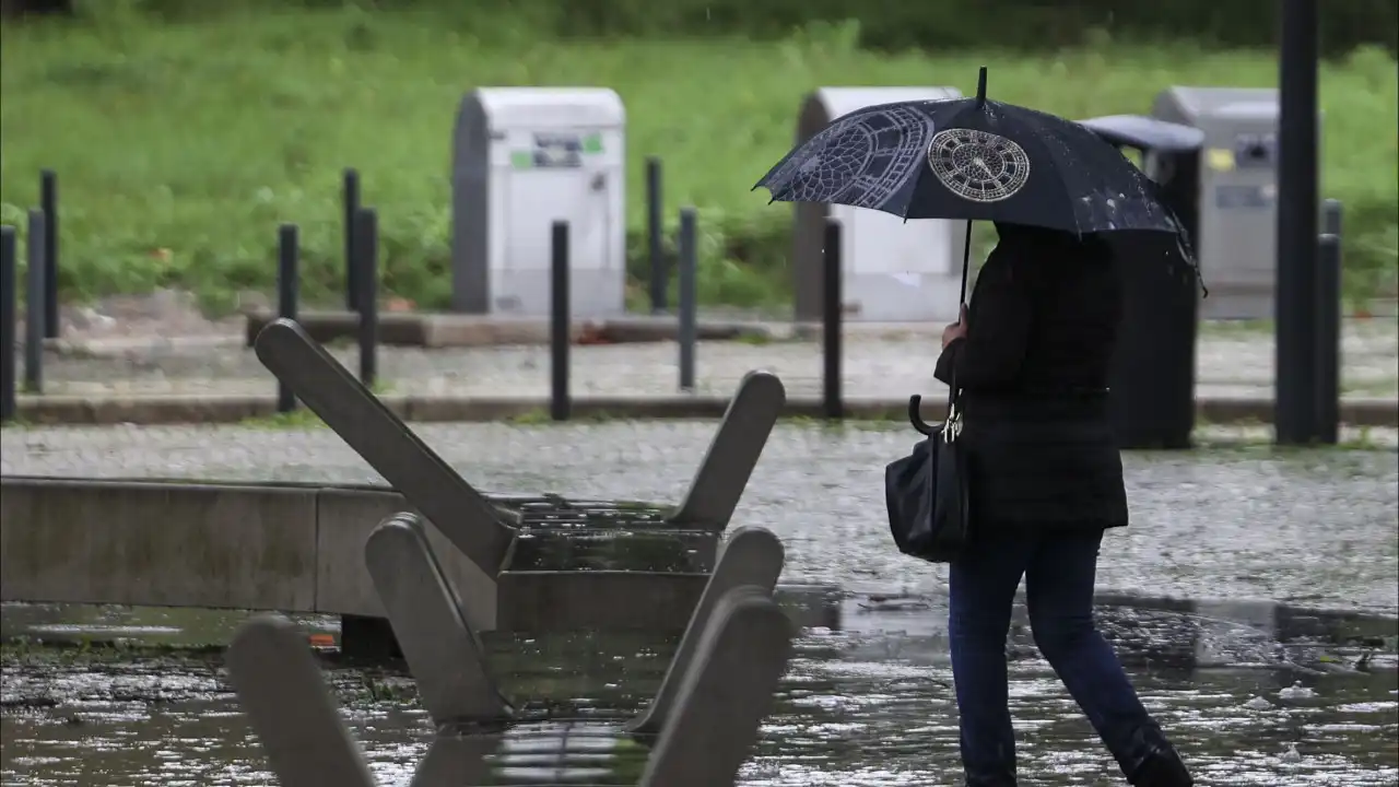
<instances>
[{"instance_id":1,"label":"black coat worn by the woman under the umbrella","mask_svg":"<svg viewBox=\"0 0 1399 787\"><path fill-rule=\"evenodd\" d=\"M936 371L963 391L978 528L1128 524L1107 410L1121 319L1105 246L1003 231L977 277L967 337L943 350Z\"/></svg>"}]
</instances>

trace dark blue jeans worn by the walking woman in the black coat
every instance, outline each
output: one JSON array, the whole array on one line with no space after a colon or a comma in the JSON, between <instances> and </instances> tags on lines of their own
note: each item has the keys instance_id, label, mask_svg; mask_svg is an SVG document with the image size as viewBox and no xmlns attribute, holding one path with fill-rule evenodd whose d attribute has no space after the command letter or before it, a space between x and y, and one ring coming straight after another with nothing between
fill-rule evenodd
<instances>
[{"instance_id":1,"label":"dark blue jeans worn by the walking woman in the black coat","mask_svg":"<svg viewBox=\"0 0 1399 787\"><path fill-rule=\"evenodd\" d=\"M1006 686L1006 633L1020 577L1035 644L1123 770L1151 723L1112 647L1093 623L1102 532L1006 534L951 564L953 678L968 777L1016 772Z\"/></svg>"}]
</instances>

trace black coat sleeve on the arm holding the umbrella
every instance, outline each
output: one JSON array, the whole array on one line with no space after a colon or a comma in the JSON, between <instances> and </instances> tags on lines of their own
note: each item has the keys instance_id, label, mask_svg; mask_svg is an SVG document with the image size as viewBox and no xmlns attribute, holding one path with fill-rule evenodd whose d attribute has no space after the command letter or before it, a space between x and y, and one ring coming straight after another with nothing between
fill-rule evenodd
<instances>
[{"instance_id":1,"label":"black coat sleeve on the arm holding the umbrella","mask_svg":"<svg viewBox=\"0 0 1399 787\"><path fill-rule=\"evenodd\" d=\"M947 344L933 375L967 391L1004 388L1020 375L1030 339L1031 294L1024 272L992 252L972 291L967 337Z\"/></svg>"}]
</instances>

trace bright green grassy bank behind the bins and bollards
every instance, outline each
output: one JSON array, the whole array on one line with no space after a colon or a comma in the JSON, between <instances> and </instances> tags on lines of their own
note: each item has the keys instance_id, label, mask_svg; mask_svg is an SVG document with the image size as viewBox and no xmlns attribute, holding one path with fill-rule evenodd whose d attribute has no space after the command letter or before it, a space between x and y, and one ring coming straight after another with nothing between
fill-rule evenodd
<instances>
[{"instance_id":1,"label":"bright green grassy bank behind the bins and bollards","mask_svg":"<svg viewBox=\"0 0 1399 787\"><path fill-rule=\"evenodd\" d=\"M7 22L0 220L22 225L38 171L52 167L70 295L185 286L225 305L238 288L270 288L276 225L295 221L305 291L325 297L340 270L340 171L353 165L381 213L385 288L441 307L448 143L462 94L609 85L628 109L631 228L642 225L641 162L659 154L667 213L701 211L702 297L769 304L788 291L790 209L748 188L786 151L797 105L817 85L967 91L986 63L996 97L1088 116L1143 112L1170 84L1272 85L1277 73L1269 53L1111 42L1055 57L937 57L862 52L841 27L778 43L557 43L497 27L353 8L183 25ZM1347 286L1357 293L1395 279L1395 62L1379 50L1323 67L1323 192L1346 200Z\"/></svg>"}]
</instances>

